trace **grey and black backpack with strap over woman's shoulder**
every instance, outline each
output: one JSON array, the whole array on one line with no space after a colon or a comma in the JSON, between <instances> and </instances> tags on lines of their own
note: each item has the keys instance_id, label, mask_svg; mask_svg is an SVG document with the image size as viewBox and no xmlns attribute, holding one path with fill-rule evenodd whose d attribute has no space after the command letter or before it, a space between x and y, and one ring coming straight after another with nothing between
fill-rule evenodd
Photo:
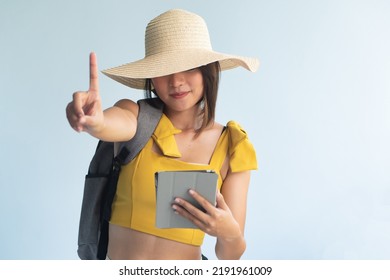
<instances>
[{"instance_id":1,"label":"grey and black backpack with strap over woman's shoulder","mask_svg":"<svg viewBox=\"0 0 390 280\"><path fill-rule=\"evenodd\" d=\"M138 155L161 118L163 103L159 99L142 99L137 103L139 113L134 137L120 143L115 157L114 143L99 141L90 162L80 214L77 250L80 259L106 259L108 222L121 166Z\"/></svg>"}]
</instances>

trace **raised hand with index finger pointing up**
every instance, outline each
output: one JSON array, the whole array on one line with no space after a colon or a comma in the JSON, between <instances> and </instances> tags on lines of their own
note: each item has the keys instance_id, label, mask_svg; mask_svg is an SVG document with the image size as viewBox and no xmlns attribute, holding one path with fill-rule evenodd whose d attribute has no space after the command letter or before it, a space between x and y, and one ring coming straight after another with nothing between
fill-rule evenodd
<instances>
[{"instance_id":1,"label":"raised hand with index finger pointing up","mask_svg":"<svg viewBox=\"0 0 390 280\"><path fill-rule=\"evenodd\" d=\"M104 114L99 95L97 59L93 52L89 56L89 73L88 91L73 94L73 100L66 107L66 117L77 132L96 135L104 129Z\"/></svg>"}]
</instances>

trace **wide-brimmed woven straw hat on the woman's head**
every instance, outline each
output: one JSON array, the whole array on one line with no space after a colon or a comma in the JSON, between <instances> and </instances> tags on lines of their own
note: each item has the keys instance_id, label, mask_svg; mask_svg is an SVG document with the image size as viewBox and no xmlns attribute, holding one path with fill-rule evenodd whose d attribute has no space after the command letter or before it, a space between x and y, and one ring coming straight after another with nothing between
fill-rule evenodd
<instances>
[{"instance_id":1,"label":"wide-brimmed woven straw hat on the woman's head","mask_svg":"<svg viewBox=\"0 0 390 280\"><path fill-rule=\"evenodd\" d=\"M169 10L151 20L145 31L145 57L102 71L126 86L144 89L145 79L186 71L219 61L221 70L242 66L255 72L256 58L212 50L205 21L184 10Z\"/></svg>"}]
</instances>

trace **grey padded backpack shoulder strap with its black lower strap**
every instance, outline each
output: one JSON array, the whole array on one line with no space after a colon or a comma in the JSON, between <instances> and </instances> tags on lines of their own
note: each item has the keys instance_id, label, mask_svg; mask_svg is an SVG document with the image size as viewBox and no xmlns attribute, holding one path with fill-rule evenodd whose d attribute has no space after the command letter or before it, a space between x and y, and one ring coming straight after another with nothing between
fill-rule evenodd
<instances>
[{"instance_id":1,"label":"grey padded backpack shoulder strap with its black lower strap","mask_svg":"<svg viewBox=\"0 0 390 280\"><path fill-rule=\"evenodd\" d=\"M111 206L115 197L121 166L129 163L142 150L152 136L163 111L163 103L156 98L138 101L139 112L137 118L137 131L134 137L120 144L118 155L113 159L110 180L107 184L105 202L102 204L102 221L97 257L106 259L108 245L108 221L111 218Z\"/></svg>"}]
</instances>

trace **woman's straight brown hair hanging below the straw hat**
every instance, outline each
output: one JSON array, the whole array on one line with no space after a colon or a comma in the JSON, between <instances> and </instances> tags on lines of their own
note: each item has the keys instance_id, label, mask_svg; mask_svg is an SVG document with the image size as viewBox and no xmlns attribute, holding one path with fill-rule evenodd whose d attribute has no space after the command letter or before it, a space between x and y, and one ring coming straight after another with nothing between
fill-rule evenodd
<instances>
[{"instance_id":1,"label":"woman's straight brown hair hanging below the straw hat","mask_svg":"<svg viewBox=\"0 0 390 280\"><path fill-rule=\"evenodd\" d=\"M217 105L218 87L221 68L219 62L213 62L204 66L199 67L203 77L203 97L199 102L201 106L200 116L203 116L202 125L196 131L199 135L208 125L215 120L215 107ZM145 83L145 98L154 98L158 95L153 89L152 80L146 79Z\"/></svg>"}]
</instances>

